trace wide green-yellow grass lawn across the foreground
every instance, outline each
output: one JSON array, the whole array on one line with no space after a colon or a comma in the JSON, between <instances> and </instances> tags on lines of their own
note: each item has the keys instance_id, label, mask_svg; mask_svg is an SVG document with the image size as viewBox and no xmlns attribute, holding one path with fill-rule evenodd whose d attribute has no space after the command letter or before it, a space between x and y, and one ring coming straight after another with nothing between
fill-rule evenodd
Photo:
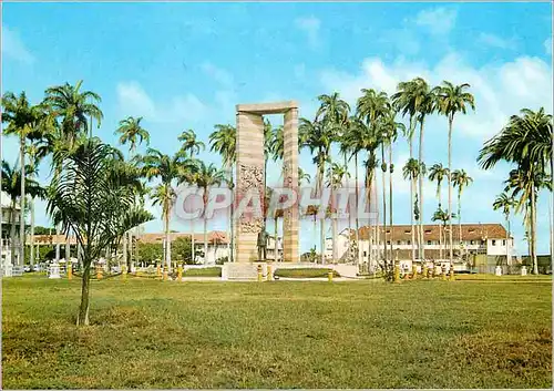
<instances>
[{"instance_id":1,"label":"wide green-yellow grass lawn across the foreground","mask_svg":"<svg viewBox=\"0 0 554 391\"><path fill-rule=\"evenodd\" d=\"M550 279L2 280L3 388L551 388Z\"/></svg>"}]
</instances>

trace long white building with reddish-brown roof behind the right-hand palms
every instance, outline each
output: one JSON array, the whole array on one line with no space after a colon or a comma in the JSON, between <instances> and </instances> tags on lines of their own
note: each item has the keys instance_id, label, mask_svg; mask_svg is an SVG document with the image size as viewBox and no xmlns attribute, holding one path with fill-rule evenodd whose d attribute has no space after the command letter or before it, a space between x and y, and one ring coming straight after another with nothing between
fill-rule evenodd
<instances>
[{"instance_id":1,"label":"long white building with reddish-brown roof behind the right-hand palms","mask_svg":"<svg viewBox=\"0 0 554 391\"><path fill-rule=\"evenodd\" d=\"M460 228L458 224L452 225L452 241L454 264L456 268L463 268L462 264L471 264L474 261L474 256L486 256L489 264L491 261L500 263L503 259L504 265L512 265L512 258L515 255L513 237L507 237L507 233L501 224L462 224L460 241ZM444 230L445 229L445 230ZM423 243L424 243L424 259L437 265L449 264L448 243L449 227L440 225L424 225ZM377 246L375 227L361 227L359 229L361 261L373 264L377 259L383 257L383 237L384 229L379 227L379 247ZM371 235L370 235L371 234ZM442 235L442 245L440 244L440 235ZM371 246L369 238L372 238ZM419 263L419 251L417 245L417 226L416 226L416 254L414 259ZM390 245L392 240L392 256L390 255ZM389 259L398 257L402 267L411 268L412 259L412 235L410 225L394 225L387 227L387 251ZM337 255L339 261L356 261L356 230L349 233L348 228L343 229L337 238ZM332 238L327 238L326 243L326 259L332 259ZM371 254L370 254L371 253ZM489 268L490 269L490 268ZM488 269L488 270L489 270Z\"/></svg>"}]
</instances>

